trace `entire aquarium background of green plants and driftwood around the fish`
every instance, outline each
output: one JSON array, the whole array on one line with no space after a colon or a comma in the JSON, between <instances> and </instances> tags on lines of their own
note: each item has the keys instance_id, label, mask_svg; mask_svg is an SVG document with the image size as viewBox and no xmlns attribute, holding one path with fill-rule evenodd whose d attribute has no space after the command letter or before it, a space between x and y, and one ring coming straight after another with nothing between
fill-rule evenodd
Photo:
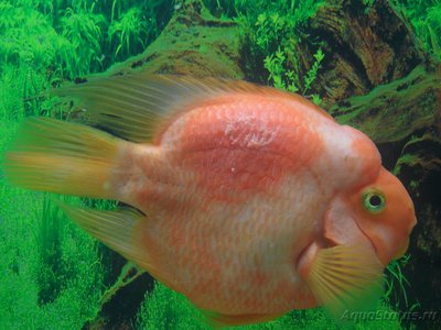
<instances>
[{"instance_id":1,"label":"entire aquarium background of green plants and driftwood around the fish","mask_svg":"<svg viewBox=\"0 0 441 330\"><path fill-rule=\"evenodd\" d=\"M0 0L0 155L26 117L75 120L72 101L47 91L93 74L229 77L299 92L377 143L419 223L385 272L378 310L390 317L335 322L316 308L239 329L438 329L440 61L440 0ZM208 328L54 198L117 207L12 187L0 167L0 329ZM421 318L430 311L438 317Z\"/></svg>"}]
</instances>

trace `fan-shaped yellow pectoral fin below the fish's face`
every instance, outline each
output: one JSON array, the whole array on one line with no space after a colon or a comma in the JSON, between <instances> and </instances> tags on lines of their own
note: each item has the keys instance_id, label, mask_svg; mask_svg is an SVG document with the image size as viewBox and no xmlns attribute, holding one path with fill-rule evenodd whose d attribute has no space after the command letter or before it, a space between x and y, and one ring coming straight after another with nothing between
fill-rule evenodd
<instances>
[{"instance_id":1,"label":"fan-shaped yellow pectoral fin below the fish's face","mask_svg":"<svg viewBox=\"0 0 441 330\"><path fill-rule=\"evenodd\" d=\"M338 320L345 310L375 306L383 292L383 268L374 251L338 245L316 252L306 282Z\"/></svg>"}]
</instances>

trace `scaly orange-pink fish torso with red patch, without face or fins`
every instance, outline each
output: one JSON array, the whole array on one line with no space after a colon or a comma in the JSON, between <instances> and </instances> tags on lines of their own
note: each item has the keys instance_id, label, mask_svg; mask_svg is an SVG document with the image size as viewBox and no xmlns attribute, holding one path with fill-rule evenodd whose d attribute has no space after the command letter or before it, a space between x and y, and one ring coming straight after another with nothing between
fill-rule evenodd
<instances>
[{"instance_id":1,"label":"scaly orange-pink fish torso with red patch, without face or fins","mask_svg":"<svg viewBox=\"0 0 441 330\"><path fill-rule=\"evenodd\" d=\"M131 165L116 168L122 176L112 176L110 189L155 215L158 221L141 224L140 240L161 263L170 261L168 280L196 305L224 314L313 306L293 261L323 226L335 189L349 180L335 178L334 186L330 174L352 172L361 180L352 169L378 170L379 156L365 136L306 107L228 95L168 123L158 145L122 152ZM373 151L368 160L352 147L335 153L359 140Z\"/></svg>"}]
</instances>

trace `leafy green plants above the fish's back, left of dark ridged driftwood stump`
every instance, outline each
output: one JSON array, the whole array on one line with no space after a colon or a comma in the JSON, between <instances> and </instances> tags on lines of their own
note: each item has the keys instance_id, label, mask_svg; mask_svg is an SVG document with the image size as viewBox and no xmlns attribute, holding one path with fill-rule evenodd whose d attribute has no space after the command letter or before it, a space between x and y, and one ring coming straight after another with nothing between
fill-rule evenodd
<instances>
[{"instance_id":1,"label":"leafy green plants above the fish's back, left of dark ridged driftwood stump","mask_svg":"<svg viewBox=\"0 0 441 330\"><path fill-rule=\"evenodd\" d=\"M306 35L306 23L322 4L322 1L276 1L259 3L254 8L259 11L237 19L243 25L249 42L250 70L254 75L261 75L262 80L277 88L298 91L306 95L318 73L324 54L318 47L313 55L310 69L300 75L297 44ZM320 103L319 95L310 96L315 103Z\"/></svg>"}]
</instances>

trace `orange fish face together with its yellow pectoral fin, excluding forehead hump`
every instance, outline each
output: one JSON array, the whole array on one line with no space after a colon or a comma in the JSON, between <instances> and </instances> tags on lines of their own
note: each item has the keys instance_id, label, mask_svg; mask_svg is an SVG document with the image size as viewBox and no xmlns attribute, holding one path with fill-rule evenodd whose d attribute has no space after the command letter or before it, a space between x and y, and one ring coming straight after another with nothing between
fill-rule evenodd
<instances>
[{"instance_id":1,"label":"orange fish face together with its yellow pectoral fin, excluding forehead hump","mask_svg":"<svg viewBox=\"0 0 441 330\"><path fill-rule=\"evenodd\" d=\"M336 319L352 308L373 308L383 270L402 256L417 220L402 184L380 167L369 184L340 191L323 221L323 235L297 262L316 300Z\"/></svg>"}]
</instances>

